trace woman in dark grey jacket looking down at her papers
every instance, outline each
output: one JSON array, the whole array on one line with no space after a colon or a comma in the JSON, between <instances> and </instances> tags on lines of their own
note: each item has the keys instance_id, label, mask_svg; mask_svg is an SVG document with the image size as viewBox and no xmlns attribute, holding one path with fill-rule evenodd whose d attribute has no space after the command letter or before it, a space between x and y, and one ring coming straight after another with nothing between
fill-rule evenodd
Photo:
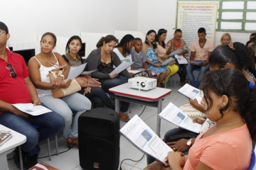
<instances>
[{"instance_id":1,"label":"woman in dark grey jacket looking down at her papers","mask_svg":"<svg viewBox=\"0 0 256 170\"><path fill-rule=\"evenodd\" d=\"M99 42L97 42L97 49L92 50L85 60L85 62L87 62L86 69L88 71L97 69L95 72L92 72L92 77L101 81L102 89L106 92L114 86L127 83L128 79L132 77L127 69L124 69L120 74L110 74L114 70L113 66L118 67L119 64L122 63L117 54L113 52L116 44L117 38L113 35L102 37ZM129 103L122 101L119 118L124 122L129 120L129 116L125 114L128 108Z\"/></svg>"}]
</instances>

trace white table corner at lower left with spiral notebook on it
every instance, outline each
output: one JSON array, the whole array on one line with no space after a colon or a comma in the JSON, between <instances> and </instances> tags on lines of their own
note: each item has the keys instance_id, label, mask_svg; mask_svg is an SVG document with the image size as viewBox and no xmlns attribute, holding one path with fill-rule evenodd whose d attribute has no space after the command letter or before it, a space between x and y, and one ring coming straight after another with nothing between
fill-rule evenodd
<instances>
[{"instance_id":1,"label":"white table corner at lower left with spiral notebook on it","mask_svg":"<svg viewBox=\"0 0 256 170\"><path fill-rule=\"evenodd\" d=\"M6 157L7 154L13 152L16 147L25 143L26 136L14 131L14 130L11 130L1 124L0 124L0 130L11 131L11 135L12 135L11 139L9 139L3 145L0 146L0 169L5 170L5 169L8 169L8 162L7 162L7 157ZM21 169L23 169L23 166L21 166Z\"/></svg>"}]
</instances>

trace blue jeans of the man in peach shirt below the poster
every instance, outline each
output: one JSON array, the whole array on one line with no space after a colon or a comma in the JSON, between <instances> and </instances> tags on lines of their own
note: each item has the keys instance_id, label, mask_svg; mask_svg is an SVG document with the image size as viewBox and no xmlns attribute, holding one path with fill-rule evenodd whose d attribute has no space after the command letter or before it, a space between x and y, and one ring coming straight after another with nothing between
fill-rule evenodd
<instances>
[{"instance_id":1,"label":"blue jeans of the man in peach shirt below the poster","mask_svg":"<svg viewBox=\"0 0 256 170\"><path fill-rule=\"evenodd\" d=\"M197 79L195 79L193 75L193 69L200 69ZM208 69L209 69L209 64L204 66L198 66L198 65L191 65L188 62L188 66L186 67L186 72L188 74L188 79L191 86L198 88L199 84L201 83L201 79L203 78L203 75L208 71Z\"/></svg>"}]
</instances>

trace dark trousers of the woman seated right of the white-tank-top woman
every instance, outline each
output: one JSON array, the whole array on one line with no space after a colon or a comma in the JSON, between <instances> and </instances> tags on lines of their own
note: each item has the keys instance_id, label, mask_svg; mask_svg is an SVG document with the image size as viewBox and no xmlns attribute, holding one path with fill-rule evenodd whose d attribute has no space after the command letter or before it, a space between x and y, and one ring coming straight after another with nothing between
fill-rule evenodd
<instances>
[{"instance_id":1,"label":"dark trousers of the woman seated right of the white-tank-top woman","mask_svg":"<svg viewBox=\"0 0 256 170\"><path fill-rule=\"evenodd\" d=\"M80 94L84 94L84 92L85 89L79 91ZM114 110L114 104L110 100L110 97L100 87L92 87L90 93L85 94L85 96L92 101L94 108L103 108L105 105L107 108Z\"/></svg>"}]
</instances>

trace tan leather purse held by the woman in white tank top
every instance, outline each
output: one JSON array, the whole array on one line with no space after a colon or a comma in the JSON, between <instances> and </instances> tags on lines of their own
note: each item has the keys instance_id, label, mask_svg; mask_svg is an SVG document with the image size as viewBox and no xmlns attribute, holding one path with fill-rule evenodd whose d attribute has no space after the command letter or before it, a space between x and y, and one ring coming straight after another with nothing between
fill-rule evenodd
<instances>
[{"instance_id":1,"label":"tan leather purse held by the woman in white tank top","mask_svg":"<svg viewBox=\"0 0 256 170\"><path fill-rule=\"evenodd\" d=\"M53 69L49 72L48 77L50 78L50 83L52 83L54 81L54 79L57 79L61 74L63 74L63 67L65 67L65 66L61 67L55 63L53 64L53 66L58 67L58 68ZM70 94L74 94L75 92L80 91L80 90L81 90L80 84L78 83L78 81L76 79L73 79L70 83L70 86L68 86L68 88L52 89L52 93L53 93L53 98L63 98Z\"/></svg>"}]
</instances>

